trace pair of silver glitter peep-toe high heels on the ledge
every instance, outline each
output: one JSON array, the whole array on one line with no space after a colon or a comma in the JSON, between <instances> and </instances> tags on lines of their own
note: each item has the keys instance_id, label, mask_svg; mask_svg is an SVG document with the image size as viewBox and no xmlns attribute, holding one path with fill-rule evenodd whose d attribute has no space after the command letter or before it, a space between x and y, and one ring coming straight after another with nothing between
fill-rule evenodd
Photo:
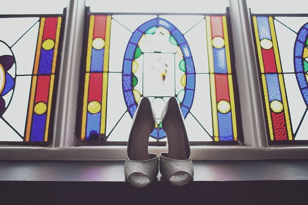
<instances>
[{"instance_id":1,"label":"pair of silver glitter peep-toe high heels on the ledge","mask_svg":"<svg viewBox=\"0 0 308 205\"><path fill-rule=\"evenodd\" d=\"M168 153L148 153L148 138L156 118L149 99L143 97L133 116L124 165L125 178L134 187L146 187L155 181L158 170L175 186L186 185L194 176L183 116L175 97L170 97L164 107L161 122L168 139Z\"/></svg>"}]
</instances>

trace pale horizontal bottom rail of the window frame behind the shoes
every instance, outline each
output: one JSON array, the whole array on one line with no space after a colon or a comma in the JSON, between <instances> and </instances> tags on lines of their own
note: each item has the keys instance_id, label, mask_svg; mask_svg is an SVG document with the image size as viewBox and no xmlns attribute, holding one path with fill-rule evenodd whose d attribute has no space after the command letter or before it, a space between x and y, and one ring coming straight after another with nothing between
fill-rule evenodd
<instances>
[{"instance_id":1,"label":"pale horizontal bottom rail of the window frame behind the shoes","mask_svg":"<svg viewBox=\"0 0 308 205\"><path fill-rule=\"evenodd\" d=\"M308 147L190 146L193 160L308 159ZM149 146L150 153L167 152L167 147ZM121 161L126 146L93 147L0 147L0 160Z\"/></svg>"}]
</instances>

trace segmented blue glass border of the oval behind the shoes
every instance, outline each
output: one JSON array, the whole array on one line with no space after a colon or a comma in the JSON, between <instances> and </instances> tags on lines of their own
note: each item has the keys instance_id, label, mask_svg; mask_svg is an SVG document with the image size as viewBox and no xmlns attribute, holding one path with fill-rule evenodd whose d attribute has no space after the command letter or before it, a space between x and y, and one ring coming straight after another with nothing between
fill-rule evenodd
<instances>
[{"instance_id":1,"label":"segmented blue glass border of the oval behind the shoes","mask_svg":"<svg viewBox=\"0 0 308 205\"><path fill-rule=\"evenodd\" d=\"M192 60L191 52L189 46L186 42L184 35L168 20L163 18L153 18L148 20L141 26L139 26L131 35L129 42L127 44L124 60L123 60L123 72L122 72L122 88L123 95L125 99L125 103L128 109L128 112L131 117L133 117L134 112L137 109L138 103L133 96L133 85L132 85L132 62L134 59L138 58L141 53L138 47L139 40L142 35L145 34L148 30L153 27L163 27L170 32L170 37L174 37L177 45L180 47L183 57L185 60L185 75L186 75L186 85L185 85L185 94L182 103L180 104L180 108L185 118L191 108L192 101L194 99L195 94L195 66L194 61ZM163 138L166 136L163 128L156 128L151 133L151 136L154 138Z\"/></svg>"}]
</instances>

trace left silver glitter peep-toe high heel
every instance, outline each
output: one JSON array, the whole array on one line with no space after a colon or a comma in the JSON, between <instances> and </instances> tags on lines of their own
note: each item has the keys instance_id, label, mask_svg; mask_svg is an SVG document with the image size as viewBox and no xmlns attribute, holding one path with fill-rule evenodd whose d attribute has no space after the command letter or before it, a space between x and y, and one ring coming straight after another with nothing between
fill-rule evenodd
<instances>
[{"instance_id":1,"label":"left silver glitter peep-toe high heel","mask_svg":"<svg viewBox=\"0 0 308 205\"><path fill-rule=\"evenodd\" d=\"M155 122L151 103L147 97L143 97L133 116L124 164L126 180L137 188L146 187L158 174L158 155L148 153L148 138Z\"/></svg>"}]
</instances>

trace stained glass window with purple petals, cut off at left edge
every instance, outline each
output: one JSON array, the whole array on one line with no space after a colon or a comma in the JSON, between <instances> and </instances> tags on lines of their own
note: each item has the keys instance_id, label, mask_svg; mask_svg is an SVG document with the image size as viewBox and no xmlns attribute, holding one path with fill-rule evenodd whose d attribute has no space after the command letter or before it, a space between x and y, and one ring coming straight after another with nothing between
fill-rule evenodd
<instances>
[{"instance_id":1,"label":"stained glass window with purple petals, cut off at left edge","mask_svg":"<svg viewBox=\"0 0 308 205\"><path fill-rule=\"evenodd\" d=\"M0 16L1 144L52 140L64 16Z\"/></svg>"}]
</instances>

